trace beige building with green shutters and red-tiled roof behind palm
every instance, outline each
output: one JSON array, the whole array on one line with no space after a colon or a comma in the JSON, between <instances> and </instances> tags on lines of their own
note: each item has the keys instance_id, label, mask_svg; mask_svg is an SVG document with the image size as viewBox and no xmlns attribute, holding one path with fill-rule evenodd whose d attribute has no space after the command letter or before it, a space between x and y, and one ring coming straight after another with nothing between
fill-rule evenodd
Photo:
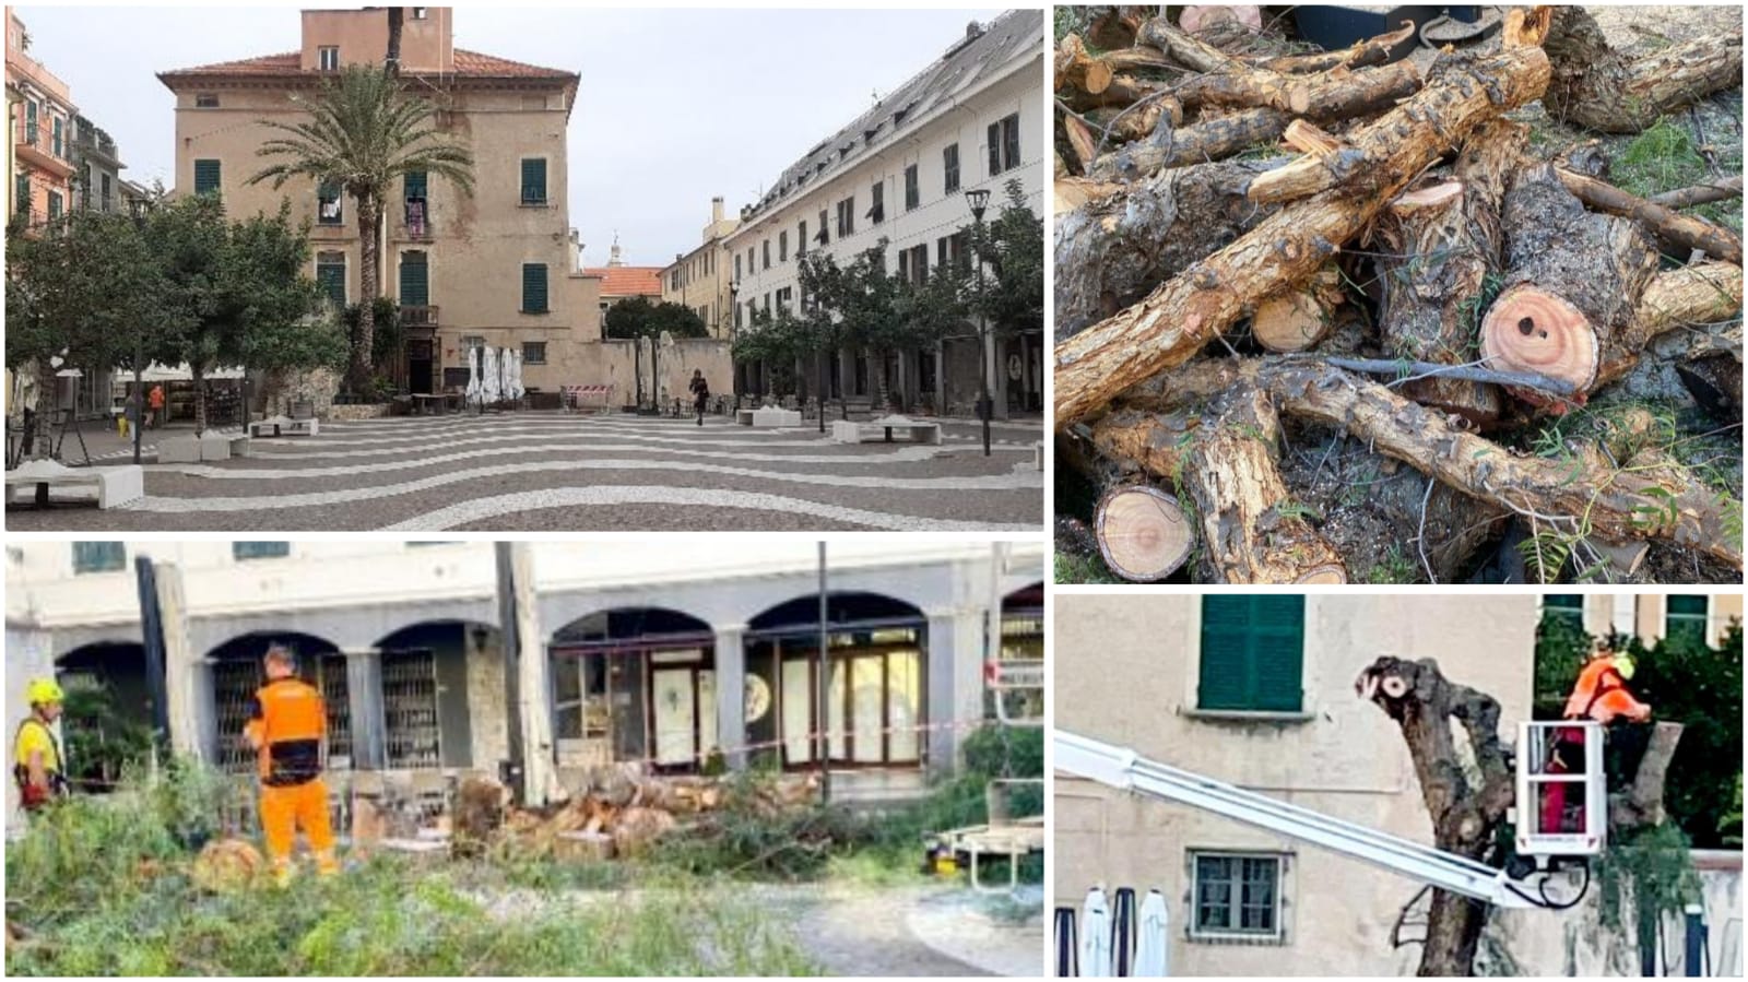
<instances>
[{"instance_id":1,"label":"beige building with green shutters and red-tiled roof behind palm","mask_svg":"<svg viewBox=\"0 0 1748 982\"><path fill-rule=\"evenodd\" d=\"M598 344L600 280L579 264L570 227L566 128L579 75L454 47L453 10L404 9L402 77L437 108L439 129L474 156L474 190L437 175L395 182L383 203L379 283L402 306L406 344L385 365L411 391L467 381L475 346L523 353L531 390L629 379L629 353ZM477 14L484 16L484 14ZM381 63L385 9L302 10L299 49L159 73L177 96L178 194L217 192L232 215L281 199L311 224L311 276L336 302L358 302L353 201L309 180L248 183L271 161L262 121L299 122L353 63Z\"/></svg>"}]
</instances>

